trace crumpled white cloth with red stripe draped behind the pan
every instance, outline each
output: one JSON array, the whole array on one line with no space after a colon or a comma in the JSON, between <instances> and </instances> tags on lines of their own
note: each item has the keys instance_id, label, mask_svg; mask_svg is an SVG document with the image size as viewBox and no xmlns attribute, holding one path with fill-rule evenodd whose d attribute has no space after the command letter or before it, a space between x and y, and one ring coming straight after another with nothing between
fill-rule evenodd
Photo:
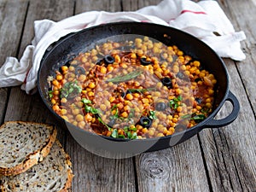
<instances>
[{"instance_id":1,"label":"crumpled white cloth with red stripe draped behind the pan","mask_svg":"<svg viewBox=\"0 0 256 192\"><path fill-rule=\"evenodd\" d=\"M58 22L36 20L35 37L32 44L25 49L20 61L8 57L0 68L0 87L22 84L21 89L26 90L27 94L32 94L37 86L40 61L50 44L70 32L117 21L143 21L172 26L200 38L222 57L230 57L236 61L245 59L240 46L241 40L246 38L245 34L235 32L216 1L195 3L190 0L164 0L158 5L135 12L90 11Z\"/></svg>"}]
</instances>

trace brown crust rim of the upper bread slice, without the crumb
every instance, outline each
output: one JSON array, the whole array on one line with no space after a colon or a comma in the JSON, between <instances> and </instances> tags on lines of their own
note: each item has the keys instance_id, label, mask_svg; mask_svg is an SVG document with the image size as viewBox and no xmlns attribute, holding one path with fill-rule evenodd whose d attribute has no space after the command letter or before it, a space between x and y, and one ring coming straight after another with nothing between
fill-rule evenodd
<instances>
[{"instance_id":1,"label":"brown crust rim of the upper bread slice, without the crumb","mask_svg":"<svg viewBox=\"0 0 256 192\"><path fill-rule=\"evenodd\" d=\"M4 176L10 176L10 175L17 175L21 172L26 172L29 168L32 166L38 164L38 162L42 161L44 157L46 157L49 154L50 148L52 147L53 143L55 143L55 139L57 136L57 130L53 125L47 125L43 123L34 123L34 122L23 122L23 121L9 121L4 123L2 126L0 126L0 129L3 129L4 126L10 125L10 124L30 124L30 125L43 125L47 129L50 129L50 135L48 138L48 141L45 141L46 144L43 146L43 148L39 148L38 150L34 151L31 154L26 155L26 160L22 161L19 165L14 167L0 167L0 175Z\"/></svg>"}]
</instances>

